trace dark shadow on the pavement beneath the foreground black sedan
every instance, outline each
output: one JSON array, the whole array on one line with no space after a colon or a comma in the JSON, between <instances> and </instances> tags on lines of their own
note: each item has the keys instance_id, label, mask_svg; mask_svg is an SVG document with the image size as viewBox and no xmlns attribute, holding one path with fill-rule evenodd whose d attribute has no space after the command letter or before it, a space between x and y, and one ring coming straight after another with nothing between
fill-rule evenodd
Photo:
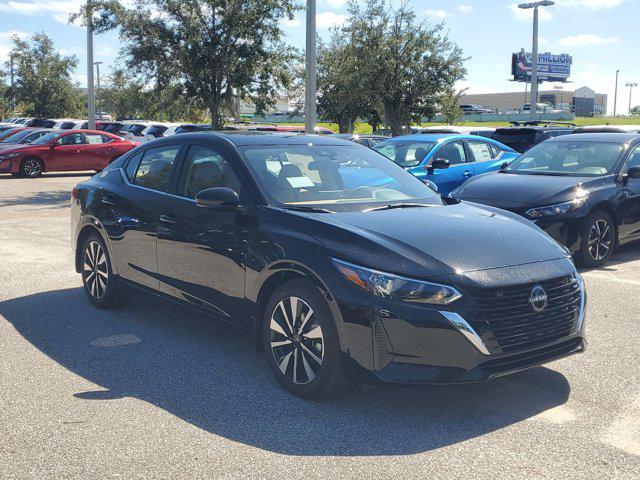
<instances>
[{"instance_id":1,"label":"dark shadow on the pavement beneath the foreground black sedan","mask_svg":"<svg viewBox=\"0 0 640 480\"><path fill-rule=\"evenodd\" d=\"M570 392L562 374L536 368L485 384L364 386L311 402L277 385L251 340L161 299L133 296L125 307L101 311L74 288L1 302L0 315L45 355L100 386L70 395L135 397L286 455L424 452L526 420L564 404Z\"/></svg>"}]
</instances>

